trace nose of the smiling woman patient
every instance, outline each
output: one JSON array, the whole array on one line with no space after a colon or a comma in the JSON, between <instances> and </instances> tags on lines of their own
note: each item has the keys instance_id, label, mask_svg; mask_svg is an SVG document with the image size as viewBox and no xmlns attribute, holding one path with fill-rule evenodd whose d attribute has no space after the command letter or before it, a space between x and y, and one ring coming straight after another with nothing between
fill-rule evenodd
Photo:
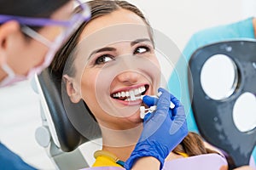
<instances>
[{"instance_id":1,"label":"nose of the smiling woman patient","mask_svg":"<svg viewBox=\"0 0 256 170\"><path fill-rule=\"evenodd\" d=\"M140 74L136 71L125 71L118 75L119 82L125 82L126 85L135 84L138 82Z\"/></svg>"}]
</instances>

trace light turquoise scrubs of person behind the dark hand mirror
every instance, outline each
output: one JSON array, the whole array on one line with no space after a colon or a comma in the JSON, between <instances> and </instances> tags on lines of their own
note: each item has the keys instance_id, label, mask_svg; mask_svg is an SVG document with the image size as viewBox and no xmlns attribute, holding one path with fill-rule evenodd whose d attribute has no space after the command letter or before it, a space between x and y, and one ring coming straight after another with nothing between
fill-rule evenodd
<instances>
[{"instance_id":1,"label":"light turquoise scrubs of person behind the dark hand mirror","mask_svg":"<svg viewBox=\"0 0 256 170\"><path fill-rule=\"evenodd\" d=\"M168 83L168 88L171 93L181 99L187 110L188 126L189 131L198 133L198 129L195 124L195 118L191 110L191 102L189 101L188 80L187 80L187 65L183 64L183 61L189 62L191 55L197 48L201 48L207 44L213 42L229 41L229 40L241 40L251 39L255 40L254 29L253 29L253 18L247 20L241 20L236 23L224 26L216 26L207 30L196 32L189 40L185 48L183 49L183 59L179 59L175 67L177 72L183 72L182 77L178 76L176 72L172 73L172 76ZM179 73L180 74L180 73ZM180 88L181 83L185 84L185 88ZM255 147L256 148L256 147ZM254 148L253 157L256 161L256 149Z\"/></svg>"}]
</instances>

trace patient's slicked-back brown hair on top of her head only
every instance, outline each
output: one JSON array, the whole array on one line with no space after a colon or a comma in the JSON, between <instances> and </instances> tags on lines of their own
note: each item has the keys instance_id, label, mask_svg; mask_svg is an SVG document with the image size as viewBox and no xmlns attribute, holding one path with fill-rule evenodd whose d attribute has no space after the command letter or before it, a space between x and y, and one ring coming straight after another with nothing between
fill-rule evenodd
<instances>
[{"instance_id":1,"label":"patient's slicked-back brown hair on top of her head only","mask_svg":"<svg viewBox=\"0 0 256 170\"><path fill-rule=\"evenodd\" d=\"M91 20L95 20L98 17L104 16L106 14L110 14L113 11L118 10L119 8L123 8L126 10L129 10L135 14L137 14L139 17L143 19L146 26L148 26L149 34L152 35L151 27L148 23L148 20L145 18L143 13L138 9L135 5L131 3L127 3L126 1L118 1L118 0L94 0L87 2L87 4L90 7L90 13L91 17L90 20L85 21L82 26L79 27L77 31L73 33L73 36L60 48L60 50L55 54L55 58L53 59L51 65L49 65L49 68L51 71L55 72L58 78L62 78L63 70L65 65L70 65L67 68L67 74L69 74L70 77L73 77L75 74L75 70L73 68L73 57L70 57L70 54L72 54L73 49L77 46L79 43L79 36L81 35L82 31L84 30L84 27L87 26L88 23L90 23ZM81 10L81 8L76 8L74 10L75 13L78 13ZM153 40L153 38L152 38Z\"/></svg>"}]
</instances>

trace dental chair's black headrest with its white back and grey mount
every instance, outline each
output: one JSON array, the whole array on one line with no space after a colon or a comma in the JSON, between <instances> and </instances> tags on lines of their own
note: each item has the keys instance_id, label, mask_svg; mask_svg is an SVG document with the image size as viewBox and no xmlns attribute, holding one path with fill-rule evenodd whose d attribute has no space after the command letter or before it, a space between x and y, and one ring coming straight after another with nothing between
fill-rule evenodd
<instances>
[{"instance_id":1,"label":"dental chair's black headrest with its white back and grey mount","mask_svg":"<svg viewBox=\"0 0 256 170\"><path fill-rule=\"evenodd\" d=\"M80 101L74 105L67 94L62 93L65 88L61 80L49 69L32 80L32 87L40 96L42 126L36 131L38 144L47 150L57 169L89 167L79 145L101 138L101 132L89 111L81 109L85 107L84 103ZM78 118L73 119L70 114Z\"/></svg>"}]
</instances>

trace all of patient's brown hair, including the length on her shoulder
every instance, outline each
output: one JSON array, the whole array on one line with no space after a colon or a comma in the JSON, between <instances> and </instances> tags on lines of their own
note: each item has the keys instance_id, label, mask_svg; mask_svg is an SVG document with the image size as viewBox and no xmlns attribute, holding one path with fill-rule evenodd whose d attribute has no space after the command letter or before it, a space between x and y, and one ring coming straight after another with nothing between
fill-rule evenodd
<instances>
[{"instance_id":1,"label":"all of patient's brown hair, including the length on her shoulder","mask_svg":"<svg viewBox=\"0 0 256 170\"><path fill-rule=\"evenodd\" d=\"M73 49L76 47L76 45L79 42L79 36L84 30L84 27L90 23L91 20L94 20L98 17L104 16L106 14L110 14L115 10L118 10L119 8L124 8L127 10L130 10L131 12L137 14L140 16L145 24L150 28L150 25L148 24L148 20L144 17L143 13L134 5L131 3L127 3L125 1L118 1L118 0L94 0L87 3L90 6L91 9L91 18L90 20L84 22L82 26L79 27L77 31L73 33L73 36L64 44L64 46L55 54L55 58L53 59L52 64L49 66L51 71L57 76L58 78L62 78L64 66L69 63L68 69L70 69L68 72L69 76L73 77L75 74L75 71L73 70L73 58L70 58L71 60L68 60L68 57L70 54L72 54ZM75 11L79 12L79 8L77 8ZM152 35L152 31L149 30L149 33ZM86 104L84 104L86 106ZM88 109L88 108L87 108ZM93 116L93 115L92 115ZM189 133L185 139L181 142L181 144L178 144L177 147L173 150L174 153L177 152L183 152L187 153L189 156L196 156L201 154L207 154L207 153L216 153L212 150L207 149L204 144L203 140L197 133Z\"/></svg>"}]
</instances>

